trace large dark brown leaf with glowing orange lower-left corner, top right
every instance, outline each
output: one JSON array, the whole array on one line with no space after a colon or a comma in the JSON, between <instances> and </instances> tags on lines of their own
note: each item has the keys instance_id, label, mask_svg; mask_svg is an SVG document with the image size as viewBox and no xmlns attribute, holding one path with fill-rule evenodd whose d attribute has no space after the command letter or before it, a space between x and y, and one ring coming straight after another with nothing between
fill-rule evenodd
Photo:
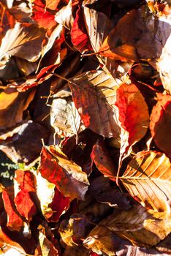
<instances>
[{"instance_id":1,"label":"large dark brown leaf with glowing orange lower-left corner, top right","mask_svg":"<svg viewBox=\"0 0 171 256\"><path fill-rule=\"evenodd\" d=\"M159 34L156 35L157 26L159 21L154 20L150 13L146 15L144 6L131 10L104 40L100 54L121 61L155 60L160 57L164 45L160 42Z\"/></svg>"}]
</instances>

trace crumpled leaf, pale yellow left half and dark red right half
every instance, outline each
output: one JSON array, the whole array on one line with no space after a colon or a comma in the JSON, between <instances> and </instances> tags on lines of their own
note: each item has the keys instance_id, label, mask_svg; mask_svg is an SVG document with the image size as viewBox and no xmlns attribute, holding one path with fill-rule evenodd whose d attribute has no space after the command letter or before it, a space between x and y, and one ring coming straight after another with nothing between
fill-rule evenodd
<instances>
[{"instance_id":1,"label":"crumpled leaf, pale yellow left half and dark red right half","mask_svg":"<svg viewBox=\"0 0 171 256\"><path fill-rule=\"evenodd\" d=\"M70 198L64 197L56 189L56 185L42 178L40 173L37 174L37 196L42 214L50 222L58 222L59 217L67 211L70 205Z\"/></svg>"}]
</instances>

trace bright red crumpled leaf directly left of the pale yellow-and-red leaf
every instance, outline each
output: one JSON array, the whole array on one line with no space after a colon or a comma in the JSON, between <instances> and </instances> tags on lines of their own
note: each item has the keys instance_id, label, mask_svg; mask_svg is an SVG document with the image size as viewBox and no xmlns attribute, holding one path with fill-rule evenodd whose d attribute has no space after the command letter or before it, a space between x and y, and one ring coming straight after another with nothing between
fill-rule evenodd
<instances>
[{"instance_id":1,"label":"bright red crumpled leaf directly left of the pale yellow-and-red leaf","mask_svg":"<svg viewBox=\"0 0 171 256\"><path fill-rule=\"evenodd\" d=\"M15 185L15 206L21 216L25 217L28 222L37 214L33 197L35 197L35 178L29 170L15 170L15 181L19 184L19 192L16 191Z\"/></svg>"}]
</instances>

